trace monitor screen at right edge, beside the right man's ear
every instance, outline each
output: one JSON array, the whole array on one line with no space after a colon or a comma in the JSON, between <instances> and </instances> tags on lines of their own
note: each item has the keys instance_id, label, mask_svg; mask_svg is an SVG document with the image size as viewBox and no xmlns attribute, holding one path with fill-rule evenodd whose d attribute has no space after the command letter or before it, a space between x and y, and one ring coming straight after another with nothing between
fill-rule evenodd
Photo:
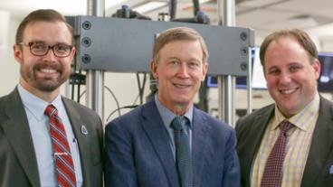
<instances>
[{"instance_id":1,"label":"monitor screen at right edge, beside the right man's ear","mask_svg":"<svg viewBox=\"0 0 333 187\"><path fill-rule=\"evenodd\" d=\"M321 65L318 89L321 92L333 91L333 53L320 52L319 61Z\"/></svg>"}]
</instances>

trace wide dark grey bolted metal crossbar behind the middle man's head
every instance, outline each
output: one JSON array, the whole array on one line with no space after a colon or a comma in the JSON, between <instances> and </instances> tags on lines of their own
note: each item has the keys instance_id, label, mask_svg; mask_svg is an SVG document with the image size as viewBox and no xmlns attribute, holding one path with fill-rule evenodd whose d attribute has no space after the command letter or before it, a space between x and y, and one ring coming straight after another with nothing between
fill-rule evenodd
<instances>
[{"instance_id":1,"label":"wide dark grey bolted metal crossbar behind the middle man's head","mask_svg":"<svg viewBox=\"0 0 333 187\"><path fill-rule=\"evenodd\" d=\"M246 76L254 32L248 28L96 16L74 17L78 68L148 72L157 33L176 26L194 28L208 47L212 75Z\"/></svg>"}]
</instances>

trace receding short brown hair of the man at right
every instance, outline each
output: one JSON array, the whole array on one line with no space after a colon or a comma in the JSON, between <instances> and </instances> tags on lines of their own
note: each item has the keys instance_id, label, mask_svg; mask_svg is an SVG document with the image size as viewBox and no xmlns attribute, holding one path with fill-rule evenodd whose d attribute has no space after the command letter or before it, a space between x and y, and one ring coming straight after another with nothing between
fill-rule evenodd
<instances>
[{"instance_id":1,"label":"receding short brown hair of the man at right","mask_svg":"<svg viewBox=\"0 0 333 187\"><path fill-rule=\"evenodd\" d=\"M262 42L260 48L260 60L262 67L265 65L265 54L271 42L278 40L281 37L290 36L297 40L305 51L308 51L309 60L311 63L318 59L318 51L315 43L309 38L309 34L301 31L300 29L284 29L268 35Z\"/></svg>"}]
</instances>

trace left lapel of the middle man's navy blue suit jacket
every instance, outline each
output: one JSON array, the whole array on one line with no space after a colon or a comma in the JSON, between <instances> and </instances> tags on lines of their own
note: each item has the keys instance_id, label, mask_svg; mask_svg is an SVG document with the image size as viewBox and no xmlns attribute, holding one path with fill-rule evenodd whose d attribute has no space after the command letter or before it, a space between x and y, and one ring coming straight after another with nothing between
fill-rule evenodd
<instances>
[{"instance_id":1,"label":"left lapel of the middle man's navy blue suit jacket","mask_svg":"<svg viewBox=\"0 0 333 187\"><path fill-rule=\"evenodd\" d=\"M166 127L158 113L154 98L142 109L142 117L143 120L141 125L143 126L151 144L154 146L157 157L163 165L169 186L177 187L179 182L175 159L170 148Z\"/></svg>"}]
</instances>

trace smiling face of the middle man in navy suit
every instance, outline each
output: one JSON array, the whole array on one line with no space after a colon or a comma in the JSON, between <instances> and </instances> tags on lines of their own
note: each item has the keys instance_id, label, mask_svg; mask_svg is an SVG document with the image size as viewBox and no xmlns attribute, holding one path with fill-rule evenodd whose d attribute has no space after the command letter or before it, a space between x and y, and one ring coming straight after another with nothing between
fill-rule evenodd
<instances>
[{"instance_id":1,"label":"smiling face of the middle man in navy suit","mask_svg":"<svg viewBox=\"0 0 333 187\"><path fill-rule=\"evenodd\" d=\"M205 79L207 66L203 62L200 42L178 40L166 43L159 51L158 62L151 63L158 81L159 101L177 115L183 115Z\"/></svg>"}]
</instances>

